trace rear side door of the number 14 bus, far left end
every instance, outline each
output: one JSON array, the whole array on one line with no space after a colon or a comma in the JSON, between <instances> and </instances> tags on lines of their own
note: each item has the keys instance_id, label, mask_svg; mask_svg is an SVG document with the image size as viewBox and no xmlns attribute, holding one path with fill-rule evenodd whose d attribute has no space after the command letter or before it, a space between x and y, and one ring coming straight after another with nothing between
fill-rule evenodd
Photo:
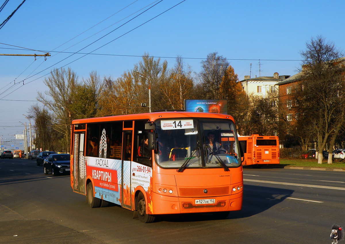
<instances>
[{"instance_id":1,"label":"rear side door of the number 14 bus, far left end","mask_svg":"<svg viewBox=\"0 0 345 244\"><path fill-rule=\"evenodd\" d=\"M85 177L86 166L84 156L85 133L74 134L73 145L73 189L76 192L86 193Z\"/></svg>"}]
</instances>

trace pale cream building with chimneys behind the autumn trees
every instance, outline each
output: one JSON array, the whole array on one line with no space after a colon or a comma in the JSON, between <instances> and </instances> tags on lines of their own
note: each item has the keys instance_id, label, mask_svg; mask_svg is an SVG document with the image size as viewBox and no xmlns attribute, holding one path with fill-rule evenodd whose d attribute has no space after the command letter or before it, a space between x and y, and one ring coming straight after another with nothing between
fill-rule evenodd
<instances>
[{"instance_id":1,"label":"pale cream building with chimneys behind the autumn trees","mask_svg":"<svg viewBox=\"0 0 345 244\"><path fill-rule=\"evenodd\" d=\"M249 75L245 75L244 80L240 81L243 90L247 95L259 95L265 97L268 93L278 92L278 82L281 82L290 75L279 75L277 72L273 76L261 76L250 78Z\"/></svg>"}]
</instances>

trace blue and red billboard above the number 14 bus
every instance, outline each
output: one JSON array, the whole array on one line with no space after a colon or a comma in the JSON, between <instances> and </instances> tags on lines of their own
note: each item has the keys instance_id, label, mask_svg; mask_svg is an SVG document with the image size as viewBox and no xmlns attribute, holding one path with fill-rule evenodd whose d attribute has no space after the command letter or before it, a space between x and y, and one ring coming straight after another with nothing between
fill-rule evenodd
<instances>
[{"instance_id":1,"label":"blue and red billboard above the number 14 bus","mask_svg":"<svg viewBox=\"0 0 345 244\"><path fill-rule=\"evenodd\" d=\"M185 111L204 113L228 113L227 100L185 100Z\"/></svg>"}]
</instances>

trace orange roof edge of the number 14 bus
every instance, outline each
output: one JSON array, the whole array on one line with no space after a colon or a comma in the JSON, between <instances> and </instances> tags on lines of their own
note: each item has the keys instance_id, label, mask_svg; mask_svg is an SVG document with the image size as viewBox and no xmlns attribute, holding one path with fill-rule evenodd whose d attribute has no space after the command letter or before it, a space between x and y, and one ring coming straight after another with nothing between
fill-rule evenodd
<instances>
[{"instance_id":1,"label":"orange roof edge of the number 14 bus","mask_svg":"<svg viewBox=\"0 0 345 244\"><path fill-rule=\"evenodd\" d=\"M99 118L79 119L73 120L72 124L94 123L94 122L110 122L119 120L138 120L148 119L149 121L155 121L157 119L164 118L215 118L215 119L231 119L234 121L233 116L219 113L200 113L200 112L151 112L151 113L139 113L139 114L127 114L127 115L114 115L105 116Z\"/></svg>"}]
</instances>

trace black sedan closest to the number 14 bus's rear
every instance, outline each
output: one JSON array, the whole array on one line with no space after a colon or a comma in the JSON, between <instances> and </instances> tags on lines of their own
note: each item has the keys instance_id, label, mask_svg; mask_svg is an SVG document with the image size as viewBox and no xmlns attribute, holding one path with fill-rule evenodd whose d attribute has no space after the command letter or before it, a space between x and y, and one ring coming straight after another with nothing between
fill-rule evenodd
<instances>
[{"instance_id":1,"label":"black sedan closest to the number 14 bus's rear","mask_svg":"<svg viewBox=\"0 0 345 244\"><path fill-rule=\"evenodd\" d=\"M43 161L43 172L53 175L58 175L62 173L70 173L70 157L68 153L61 154L50 154Z\"/></svg>"}]
</instances>

